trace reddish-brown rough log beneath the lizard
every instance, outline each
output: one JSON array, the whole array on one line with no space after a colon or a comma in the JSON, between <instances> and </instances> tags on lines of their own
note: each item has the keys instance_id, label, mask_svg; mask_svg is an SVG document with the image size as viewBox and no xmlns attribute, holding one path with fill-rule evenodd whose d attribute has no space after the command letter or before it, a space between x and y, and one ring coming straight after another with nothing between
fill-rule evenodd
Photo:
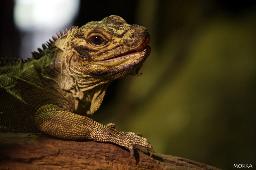
<instances>
[{"instance_id":1,"label":"reddish-brown rough log beneath the lizard","mask_svg":"<svg viewBox=\"0 0 256 170\"><path fill-rule=\"evenodd\" d=\"M34 133L0 133L0 169L217 169L196 161L110 143L70 141Z\"/></svg>"}]
</instances>

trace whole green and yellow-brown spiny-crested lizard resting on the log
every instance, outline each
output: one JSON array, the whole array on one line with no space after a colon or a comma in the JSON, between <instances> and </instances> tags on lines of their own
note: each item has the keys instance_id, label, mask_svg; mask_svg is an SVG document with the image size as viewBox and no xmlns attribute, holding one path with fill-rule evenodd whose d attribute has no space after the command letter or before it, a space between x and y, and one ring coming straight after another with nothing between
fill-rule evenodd
<instances>
[{"instance_id":1,"label":"whole green and yellow-brown spiny-crested lizard resting on the log","mask_svg":"<svg viewBox=\"0 0 256 170\"><path fill-rule=\"evenodd\" d=\"M132 132L95 122L95 113L112 80L138 75L149 56L150 34L115 15L56 33L23 59L0 61L0 132L109 142L130 151L150 142Z\"/></svg>"}]
</instances>

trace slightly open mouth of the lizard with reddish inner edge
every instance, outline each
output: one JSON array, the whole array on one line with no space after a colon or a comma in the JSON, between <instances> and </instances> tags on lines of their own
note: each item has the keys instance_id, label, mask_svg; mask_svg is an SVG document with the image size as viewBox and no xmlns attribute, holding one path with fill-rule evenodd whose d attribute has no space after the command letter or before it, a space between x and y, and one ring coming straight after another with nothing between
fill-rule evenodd
<instances>
[{"instance_id":1,"label":"slightly open mouth of the lizard with reddish inner edge","mask_svg":"<svg viewBox=\"0 0 256 170\"><path fill-rule=\"evenodd\" d=\"M137 48L135 48L131 51L128 51L126 53L116 55L114 57L111 57L111 58L108 58L108 59L105 59L105 60L101 60L101 62L114 61L114 60L119 60L119 59L122 59L122 58L130 57L132 55L138 55L138 54L142 53L145 50L145 48L147 48L147 46L149 44L149 41L150 41L150 38L148 36L146 38L146 40L139 47L137 47Z\"/></svg>"}]
</instances>

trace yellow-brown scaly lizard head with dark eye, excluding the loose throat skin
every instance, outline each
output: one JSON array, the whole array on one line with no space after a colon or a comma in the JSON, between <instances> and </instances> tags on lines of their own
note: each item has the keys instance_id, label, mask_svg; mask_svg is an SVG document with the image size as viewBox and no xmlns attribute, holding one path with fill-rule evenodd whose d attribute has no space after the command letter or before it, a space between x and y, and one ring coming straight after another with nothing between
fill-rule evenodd
<instances>
[{"instance_id":1,"label":"yellow-brown scaly lizard head with dark eye, excluding the loose throat skin","mask_svg":"<svg viewBox=\"0 0 256 170\"><path fill-rule=\"evenodd\" d=\"M147 28L129 25L119 16L92 21L73 31L65 48L70 70L101 81L137 74L150 54Z\"/></svg>"}]
</instances>

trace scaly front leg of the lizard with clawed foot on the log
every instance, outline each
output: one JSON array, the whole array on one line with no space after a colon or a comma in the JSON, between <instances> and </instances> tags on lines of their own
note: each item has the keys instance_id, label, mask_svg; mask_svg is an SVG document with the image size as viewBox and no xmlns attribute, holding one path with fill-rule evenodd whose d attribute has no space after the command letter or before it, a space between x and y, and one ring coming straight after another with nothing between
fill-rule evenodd
<instances>
[{"instance_id":1,"label":"scaly front leg of the lizard with clawed foot on the log","mask_svg":"<svg viewBox=\"0 0 256 170\"><path fill-rule=\"evenodd\" d=\"M38 109L35 122L39 130L48 135L64 139L90 139L99 142L111 142L130 150L133 156L133 145L140 145L153 154L149 141L132 132L114 129L113 123L107 126L92 119L62 110L56 105L45 105Z\"/></svg>"}]
</instances>

